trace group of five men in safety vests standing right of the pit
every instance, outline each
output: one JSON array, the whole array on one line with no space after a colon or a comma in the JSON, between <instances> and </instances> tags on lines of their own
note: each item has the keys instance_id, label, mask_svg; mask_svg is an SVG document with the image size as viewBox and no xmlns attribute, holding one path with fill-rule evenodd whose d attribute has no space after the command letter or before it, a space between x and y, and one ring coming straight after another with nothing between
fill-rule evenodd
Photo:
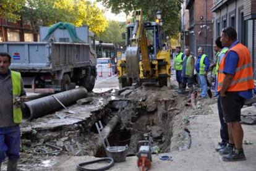
<instances>
[{"instance_id":1,"label":"group of five men in safety vests standing right of the pit","mask_svg":"<svg viewBox=\"0 0 256 171\"><path fill-rule=\"evenodd\" d=\"M189 49L185 50L185 56L180 49L176 48L177 55L174 58L174 69L179 83L178 92L184 92L186 81L189 82L187 78L192 78L195 66L202 88L201 97L206 98L207 72L212 70L215 75L215 90L221 123L221 142L218 143L216 151L223 156L223 161L245 160L242 148L244 133L240 123L241 109L245 100L252 98L254 90L254 75L249 49L239 43L237 32L233 27L224 28L221 36L215 40L216 54L211 65L201 47L198 48L198 57L195 63L192 60L187 60L189 57L194 59L190 55ZM187 73L189 73L189 77L186 77ZM190 85L192 83L193 80L190 80ZM192 86L189 88L191 89Z\"/></svg>"}]
</instances>

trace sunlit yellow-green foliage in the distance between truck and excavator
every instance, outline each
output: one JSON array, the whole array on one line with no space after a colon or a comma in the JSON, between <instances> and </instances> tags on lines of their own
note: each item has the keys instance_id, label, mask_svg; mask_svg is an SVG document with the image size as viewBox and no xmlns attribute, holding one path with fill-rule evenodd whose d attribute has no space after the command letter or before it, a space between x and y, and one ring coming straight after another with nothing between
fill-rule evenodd
<instances>
[{"instance_id":1,"label":"sunlit yellow-green foliage in the distance between truck and excavator","mask_svg":"<svg viewBox=\"0 0 256 171\"><path fill-rule=\"evenodd\" d=\"M104 43L114 43L124 46L126 40L122 39L122 33L126 32L126 23L109 21L108 28L98 35L98 39L102 40Z\"/></svg>"}]
</instances>

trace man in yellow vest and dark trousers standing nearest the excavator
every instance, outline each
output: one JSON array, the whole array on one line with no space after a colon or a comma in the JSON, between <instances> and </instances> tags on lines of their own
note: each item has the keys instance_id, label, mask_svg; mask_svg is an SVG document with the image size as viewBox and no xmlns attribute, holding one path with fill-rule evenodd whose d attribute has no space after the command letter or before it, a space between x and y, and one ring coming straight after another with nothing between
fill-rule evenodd
<instances>
[{"instance_id":1,"label":"man in yellow vest and dark trousers standing nearest the excavator","mask_svg":"<svg viewBox=\"0 0 256 171\"><path fill-rule=\"evenodd\" d=\"M174 57L174 70L176 70L176 80L179 83L179 89L178 89L178 93L182 93L181 90L181 83L182 83L182 63L183 63L183 59L184 59L184 54L181 52L181 47L180 46L176 46L175 49L176 52L176 56Z\"/></svg>"}]
</instances>

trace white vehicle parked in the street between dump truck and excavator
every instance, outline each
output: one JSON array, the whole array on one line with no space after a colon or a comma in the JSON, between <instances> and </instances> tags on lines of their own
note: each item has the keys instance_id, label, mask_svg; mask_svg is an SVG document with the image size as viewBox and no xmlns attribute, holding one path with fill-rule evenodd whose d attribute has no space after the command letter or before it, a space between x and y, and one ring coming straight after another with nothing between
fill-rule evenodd
<instances>
[{"instance_id":1,"label":"white vehicle parked in the street between dump truck and excavator","mask_svg":"<svg viewBox=\"0 0 256 171\"><path fill-rule=\"evenodd\" d=\"M112 75L113 73L114 74L117 73L117 65L114 63L114 61L111 58L108 58L108 57L98 58L96 67L97 67L97 72L100 73L100 75L101 74L109 75L109 73L111 73Z\"/></svg>"}]
</instances>

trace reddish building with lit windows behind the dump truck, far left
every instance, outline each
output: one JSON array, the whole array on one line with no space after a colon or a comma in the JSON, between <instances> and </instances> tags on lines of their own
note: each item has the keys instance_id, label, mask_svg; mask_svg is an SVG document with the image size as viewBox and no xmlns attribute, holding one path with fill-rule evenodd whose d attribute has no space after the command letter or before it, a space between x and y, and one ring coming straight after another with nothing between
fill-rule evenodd
<instances>
[{"instance_id":1,"label":"reddish building with lit windows behind the dump truck, far left","mask_svg":"<svg viewBox=\"0 0 256 171\"><path fill-rule=\"evenodd\" d=\"M38 34L32 30L28 21L0 17L1 41L38 41Z\"/></svg>"}]
</instances>

